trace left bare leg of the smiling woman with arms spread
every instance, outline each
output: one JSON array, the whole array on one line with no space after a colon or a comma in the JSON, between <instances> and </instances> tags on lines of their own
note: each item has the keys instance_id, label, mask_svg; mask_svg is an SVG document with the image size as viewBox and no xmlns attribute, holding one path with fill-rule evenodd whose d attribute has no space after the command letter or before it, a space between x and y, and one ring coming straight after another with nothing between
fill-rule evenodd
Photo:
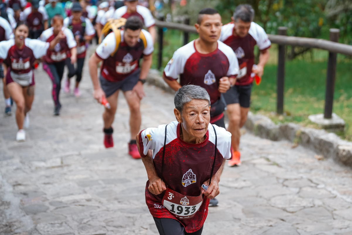
<instances>
[{"instance_id":1,"label":"left bare leg of the smiling woman with arms spread","mask_svg":"<svg viewBox=\"0 0 352 235\"><path fill-rule=\"evenodd\" d=\"M23 129L23 120L24 120L24 109L25 109L25 100L23 95L23 89L16 82L11 82L7 85L7 89L10 92L10 95L16 103L16 122L18 129Z\"/></svg>"}]
</instances>

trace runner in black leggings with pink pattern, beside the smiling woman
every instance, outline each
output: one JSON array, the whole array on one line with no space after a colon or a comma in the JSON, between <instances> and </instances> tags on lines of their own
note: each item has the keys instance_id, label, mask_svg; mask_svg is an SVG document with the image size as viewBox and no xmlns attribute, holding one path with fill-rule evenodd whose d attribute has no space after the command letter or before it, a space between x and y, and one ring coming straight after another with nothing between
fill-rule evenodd
<instances>
[{"instance_id":1,"label":"runner in black leggings with pink pattern, beside the smiling woman","mask_svg":"<svg viewBox=\"0 0 352 235\"><path fill-rule=\"evenodd\" d=\"M61 89L61 80L64 73L65 59L71 57L71 63L74 64L77 59L76 40L71 30L63 26L63 18L56 15L51 20L52 27L45 30L40 36L40 40L51 42L57 35L63 33L65 35L54 48L54 51L48 51L43 57L43 69L48 73L52 81L52 99L54 100L55 108L54 115L60 115L61 104L59 94Z\"/></svg>"}]
</instances>

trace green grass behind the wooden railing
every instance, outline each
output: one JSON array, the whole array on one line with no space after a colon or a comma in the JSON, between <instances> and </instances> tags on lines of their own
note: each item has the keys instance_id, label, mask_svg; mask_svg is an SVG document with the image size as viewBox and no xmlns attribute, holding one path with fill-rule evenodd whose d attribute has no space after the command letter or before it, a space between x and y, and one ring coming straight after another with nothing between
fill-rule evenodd
<instances>
[{"instance_id":1,"label":"green grass behind the wooden railing","mask_svg":"<svg viewBox=\"0 0 352 235\"><path fill-rule=\"evenodd\" d=\"M190 40L197 38L190 34ZM164 32L162 69L174 51L183 45L183 33L178 30ZM157 68L158 44L155 44L152 68ZM270 49L270 59L265 66L262 83L253 85L251 111L270 117L275 123L294 122L303 126L320 128L308 116L323 113L325 104L326 68L328 52L313 50L285 63L284 111L276 115L277 46ZM346 122L346 140L352 140L352 60L338 55L333 112Z\"/></svg>"}]
</instances>

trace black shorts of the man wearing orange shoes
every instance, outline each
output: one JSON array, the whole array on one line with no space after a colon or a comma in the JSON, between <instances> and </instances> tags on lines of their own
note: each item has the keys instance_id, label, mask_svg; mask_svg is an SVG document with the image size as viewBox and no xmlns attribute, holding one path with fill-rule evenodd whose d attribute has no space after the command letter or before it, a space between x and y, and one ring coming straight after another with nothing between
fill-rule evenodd
<instances>
[{"instance_id":1,"label":"black shorts of the man wearing orange shoes","mask_svg":"<svg viewBox=\"0 0 352 235\"><path fill-rule=\"evenodd\" d=\"M226 104L240 104L243 108L249 108L251 104L251 91L253 84L245 86L233 86L225 94Z\"/></svg>"}]
</instances>

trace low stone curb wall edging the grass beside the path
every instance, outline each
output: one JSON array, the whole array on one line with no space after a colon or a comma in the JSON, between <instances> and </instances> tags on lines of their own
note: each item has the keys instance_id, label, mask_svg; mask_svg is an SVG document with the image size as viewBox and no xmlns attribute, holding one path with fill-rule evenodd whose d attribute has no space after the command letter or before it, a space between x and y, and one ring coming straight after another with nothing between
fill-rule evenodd
<instances>
[{"instance_id":1,"label":"low stone curb wall edging the grass beside the path","mask_svg":"<svg viewBox=\"0 0 352 235\"><path fill-rule=\"evenodd\" d=\"M175 93L160 76L158 70L150 70L147 82L166 92ZM352 142L341 140L334 133L304 128L294 123L276 125L270 118L253 115L251 112L249 112L245 127L259 137L273 141L288 140L294 144L301 144L325 158L331 157L335 162L352 167Z\"/></svg>"}]
</instances>

